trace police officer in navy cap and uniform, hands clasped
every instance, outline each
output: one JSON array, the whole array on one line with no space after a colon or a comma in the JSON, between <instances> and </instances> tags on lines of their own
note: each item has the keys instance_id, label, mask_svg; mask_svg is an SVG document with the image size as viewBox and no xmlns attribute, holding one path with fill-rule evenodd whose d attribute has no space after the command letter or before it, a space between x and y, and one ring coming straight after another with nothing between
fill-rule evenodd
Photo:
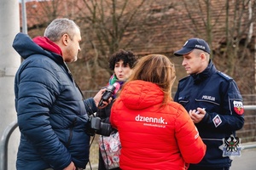
<instances>
[{"instance_id":1,"label":"police officer in navy cap and uniform, hands clasped","mask_svg":"<svg viewBox=\"0 0 256 170\"><path fill-rule=\"evenodd\" d=\"M236 130L244 124L242 98L236 82L217 71L210 59L210 48L202 39L191 38L174 53L183 56L188 77L179 81L174 100L182 104L195 122L207 154L189 170L228 170L230 157L221 147L236 139ZM193 150L193 148L191 148Z\"/></svg>"}]
</instances>

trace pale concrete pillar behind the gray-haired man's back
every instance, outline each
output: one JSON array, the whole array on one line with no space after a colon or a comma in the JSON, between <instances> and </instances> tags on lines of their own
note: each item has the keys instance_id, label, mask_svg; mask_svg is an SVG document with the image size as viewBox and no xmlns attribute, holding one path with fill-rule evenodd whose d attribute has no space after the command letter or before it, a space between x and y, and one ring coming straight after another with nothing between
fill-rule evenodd
<instances>
[{"instance_id":1,"label":"pale concrete pillar behind the gray-haired man's back","mask_svg":"<svg viewBox=\"0 0 256 170\"><path fill-rule=\"evenodd\" d=\"M14 80L20 66L20 55L12 48L20 31L18 0L0 0L0 138L11 122L16 120ZM8 169L14 170L20 133L18 128L9 140Z\"/></svg>"}]
</instances>

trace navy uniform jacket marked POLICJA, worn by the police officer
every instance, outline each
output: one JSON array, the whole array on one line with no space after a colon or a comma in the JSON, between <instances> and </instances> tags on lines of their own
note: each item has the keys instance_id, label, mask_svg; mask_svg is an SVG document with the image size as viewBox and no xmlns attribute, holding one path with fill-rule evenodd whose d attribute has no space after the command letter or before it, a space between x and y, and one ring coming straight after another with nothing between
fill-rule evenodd
<instances>
[{"instance_id":1,"label":"navy uniform jacket marked POLICJA, worn by the police officer","mask_svg":"<svg viewBox=\"0 0 256 170\"><path fill-rule=\"evenodd\" d=\"M199 164L190 166L230 167L230 157L223 156L219 146L224 144L224 138L236 136L236 130L244 124L242 98L236 82L217 71L210 60L205 71L179 81L174 100L187 111L197 107L207 111L202 121L195 124L207 144L207 154Z\"/></svg>"}]
</instances>

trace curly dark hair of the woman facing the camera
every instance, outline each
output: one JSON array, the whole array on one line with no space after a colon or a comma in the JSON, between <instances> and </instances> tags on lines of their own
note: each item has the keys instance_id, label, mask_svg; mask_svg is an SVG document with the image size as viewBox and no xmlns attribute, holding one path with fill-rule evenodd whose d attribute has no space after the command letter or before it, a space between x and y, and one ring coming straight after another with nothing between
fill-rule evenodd
<instances>
[{"instance_id":1,"label":"curly dark hair of the woman facing the camera","mask_svg":"<svg viewBox=\"0 0 256 170\"><path fill-rule=\"evenodd\" d=\"M114 65L119 62L119 60L123 60L125 66L129 65L131 68L133 68L135 62L137 61L137 56L131 51L119 49L119 51L113 54L108 60L109 68L112 71L114 70Z\"/></svg>"}]
</instances>

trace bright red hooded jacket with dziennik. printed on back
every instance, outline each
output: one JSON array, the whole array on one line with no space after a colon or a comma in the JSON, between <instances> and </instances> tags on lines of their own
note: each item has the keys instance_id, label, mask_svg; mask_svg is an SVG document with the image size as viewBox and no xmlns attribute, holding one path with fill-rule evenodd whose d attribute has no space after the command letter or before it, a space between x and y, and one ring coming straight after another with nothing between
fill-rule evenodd
<instances>
[{"instance_id":1,"label":"bright red hooded jacket with dziennik. printed on back","mask_svg":"<svg viewBox=\"0 0 256 170\"><path fill-rule=\"evenodd\" d=\"M160 106L163 92L152 82L132 81L113 103L110 122L119 131L121 169L185 169L206 153L182 105Z\"/></svg>"}]
</instances>

